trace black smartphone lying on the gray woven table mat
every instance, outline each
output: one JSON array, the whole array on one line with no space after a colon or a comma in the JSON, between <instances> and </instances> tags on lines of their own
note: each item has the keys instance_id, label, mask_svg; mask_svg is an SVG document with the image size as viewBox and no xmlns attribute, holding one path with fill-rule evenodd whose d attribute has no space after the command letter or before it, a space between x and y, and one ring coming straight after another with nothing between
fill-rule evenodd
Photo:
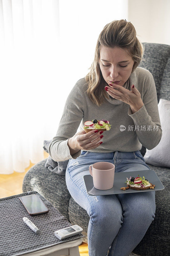
<instances>
[{"instance_id":1,"label":"black smartphone lying on the gray woven table mat","mask_svg":"<svg viewBox=\"0 0 170 256\"><path fill-rule=\"evenodd\" d=\"M29 195L29 196L20 196L20 201L26 208L29 215L39 215L47 213L49 210L45 206L45 204L42 202L40 197L36 194Z\"/></svg>"}]
</instances>

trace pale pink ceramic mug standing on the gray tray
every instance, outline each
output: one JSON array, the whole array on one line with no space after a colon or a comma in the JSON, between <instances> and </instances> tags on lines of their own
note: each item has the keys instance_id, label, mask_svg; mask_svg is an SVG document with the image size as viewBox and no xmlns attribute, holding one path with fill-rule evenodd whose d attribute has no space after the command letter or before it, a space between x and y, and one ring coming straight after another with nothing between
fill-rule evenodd
<instances>
[{"instance_id":1,"label":"pale pink ceramic mug standing on the gray tray","mask_svg":"<svg viewBox=\"0 0 170 256\"><path fill-rule=\"evenodd\" d=\"M108 162L97 162L89 166L89 172L93 177L94 188L106 190L113 188L115 177L115 165Z\"/></svg>"}]
</instances>

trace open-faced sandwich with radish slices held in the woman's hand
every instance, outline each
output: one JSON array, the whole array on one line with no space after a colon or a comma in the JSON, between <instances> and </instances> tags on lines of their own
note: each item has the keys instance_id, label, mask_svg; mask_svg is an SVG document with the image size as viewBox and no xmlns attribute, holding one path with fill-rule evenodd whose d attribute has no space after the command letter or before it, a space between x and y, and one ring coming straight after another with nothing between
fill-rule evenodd
<instances>
[{"instance_id":1,"label":"open-faced sandwich with radish slices held in the woman's hand","mask_svg":"<svg viewBox=\"0 0 170 256\"><path fill-rule=\"evenodd\" d=\"M84 124L84 130L85 132L90 132L92 130L98 130L98 131L108 131L111 129L111 124L109 124L109 121L102 119L101 121L94 119L92 121L86 121Z\"/></svg>"}]
</instances>

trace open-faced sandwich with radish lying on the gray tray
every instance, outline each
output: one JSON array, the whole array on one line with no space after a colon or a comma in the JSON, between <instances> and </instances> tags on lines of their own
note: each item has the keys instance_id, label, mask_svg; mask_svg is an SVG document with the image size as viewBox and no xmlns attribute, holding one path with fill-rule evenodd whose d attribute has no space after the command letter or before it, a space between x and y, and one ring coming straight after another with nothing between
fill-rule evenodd
<instances>
[{"instance_id":1,"label":"open-faced sandwich with radish lying on the gray tray","mask_svg":"<svg viewBox=\"0 0 170 256\"><path fill-rule=\"evenodd\" d=\"M155 185L152 185L152 183L149 183L148 180L146 180L143 176L143 179L141 177L131 177L128 179L126 178L126 182L125 184L127 185L127 187L122 187L121 189L125 190L125 189L128 189L128 188L131 188L131 189L136 189L136 190L145 190L145 189L148 189L148 188L151 188L153 189L155 187Z\"/></svg>"}]
</instances>

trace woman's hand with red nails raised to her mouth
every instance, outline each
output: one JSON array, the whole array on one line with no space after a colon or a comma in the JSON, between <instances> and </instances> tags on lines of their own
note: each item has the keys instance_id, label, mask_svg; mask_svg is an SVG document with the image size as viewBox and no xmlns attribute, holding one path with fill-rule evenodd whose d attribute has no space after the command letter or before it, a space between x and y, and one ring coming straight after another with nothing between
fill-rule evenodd
<instances>
[{"instance_id":1,"label":"woman's hand with red nails raised to her mouth","mask_svg":"<svg viewBox=\"0 0 170 256\"><path fill-rule=\"evenodd\" d=\"M107 93L111 97L129 104L130 108L133 109L135 112L137 112L144 105L141 99L140 92L137 90L135 86L133 88L134 84L131 85L131 91L125 89L123 86L120 86L118 84L109 85L110 86L106 86L108 88ZM114 88L118 90L115 90Z\"/></svg>"}]
</instances>

